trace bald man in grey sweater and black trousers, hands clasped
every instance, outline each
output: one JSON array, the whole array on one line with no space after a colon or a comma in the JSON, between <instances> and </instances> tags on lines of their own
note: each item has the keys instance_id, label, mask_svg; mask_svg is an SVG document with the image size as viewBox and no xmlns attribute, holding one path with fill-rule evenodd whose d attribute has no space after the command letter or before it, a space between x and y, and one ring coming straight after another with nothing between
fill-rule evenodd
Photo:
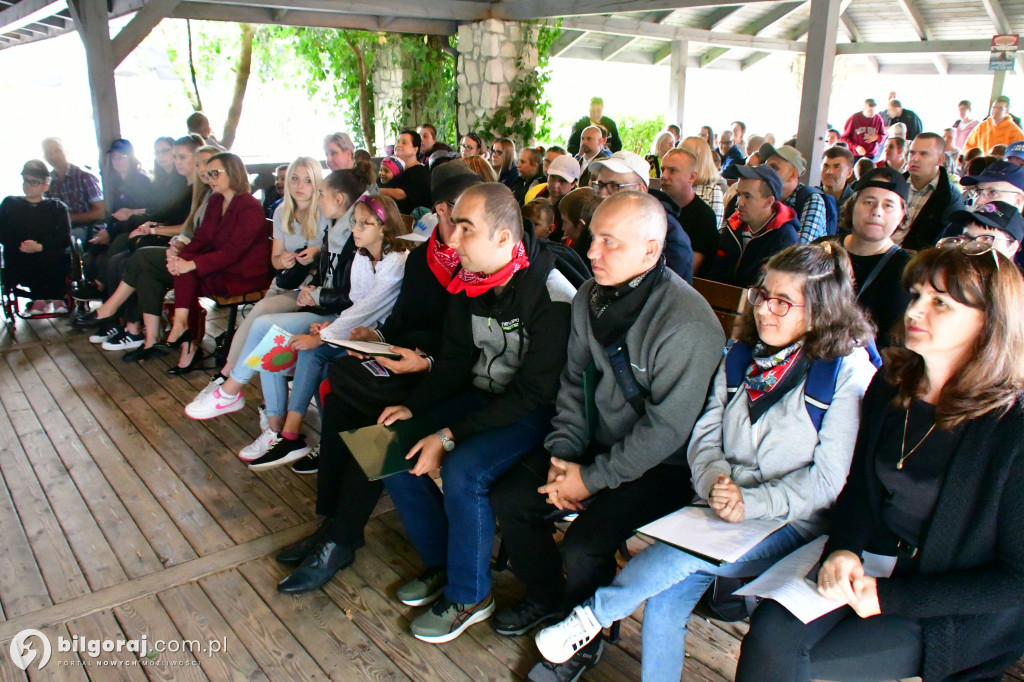
<instances>
[{"instance_id":1,"label":"bald man in grey sweater and black trousers, hands clasped","mask_svg":"<svg viewBox=\"0 0 1024 682\"><path fill-rule=\"evenodd\" d=\"M668 222L655 198L615 193L590 228L594 279L572 302L554 431L492 496L509 562L526 585L525 598L495 617L503 635L561 617L610 583L615 551L634 529L693 497L685 444L722 357L722 326L667 267ZM597 375L593 388L588 375ZM548 518L584 501L559 551ZM585 647L559 679L595 663L599 647Z\"/></svg>"}]
</instances>

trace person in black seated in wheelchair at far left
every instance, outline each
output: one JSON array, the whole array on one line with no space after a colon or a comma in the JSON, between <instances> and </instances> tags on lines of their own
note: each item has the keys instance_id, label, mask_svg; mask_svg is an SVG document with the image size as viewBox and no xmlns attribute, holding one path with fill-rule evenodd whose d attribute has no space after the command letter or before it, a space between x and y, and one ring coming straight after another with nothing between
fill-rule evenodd
<instances>
[{"instance_id":1,"label":"person in black seated in wheelchair at far left","mask_svg":"<svg viewBox=\"0 0 1024 682\"><path fill-rule=\"evenodd\" d=\"M0 204L0 244L6 287L27 288L33 301L29 315L65 313L71 261L71 215L63 202L46 199L50 174L41 161L22 169L25 197L7 197Z\"/></svg>"}]
</instances>

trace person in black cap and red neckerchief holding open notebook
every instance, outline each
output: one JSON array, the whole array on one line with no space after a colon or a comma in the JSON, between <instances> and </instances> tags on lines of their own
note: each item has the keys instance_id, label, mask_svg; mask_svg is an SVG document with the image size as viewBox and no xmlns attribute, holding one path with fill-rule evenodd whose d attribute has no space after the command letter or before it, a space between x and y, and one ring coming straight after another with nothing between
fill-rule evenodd
<instances>
[{"instance_id":1,"label":"person in black cap and red neckerchief holding open notebook","mask_svg":"<svg viewBox=\"0 0 1024 682\"><path fill-rule=\"evenodd\" d=\"M401 291L387 322L376 330L352 330L352 338L394 344L401 359L374 363L350 353L328 368L330 392L324 397L319 455L310 453L292 465L298 473L317 474L316 513L324 520L315 532L274 557L279 563L296 566L278 584L280 592L302 594L319 588L350 564L362 545L364 529L384 484L367 479L340 432L375 424L384 408L404 402L431 370L452 299L446 287L461 266L459 254L449 246L455 232L452 207L463 191L481 182L465 164L444 164L430 174L437 228L406 259Z\"/></svg>"}]
</instances>

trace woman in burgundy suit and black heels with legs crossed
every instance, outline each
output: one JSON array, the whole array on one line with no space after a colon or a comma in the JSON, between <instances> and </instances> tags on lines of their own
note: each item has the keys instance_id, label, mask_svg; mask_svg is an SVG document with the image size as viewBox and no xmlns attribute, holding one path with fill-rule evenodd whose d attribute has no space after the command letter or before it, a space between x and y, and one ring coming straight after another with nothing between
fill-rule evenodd
<instances>
[{"instance_id":1,"label":"woman in burgundy suit and black heels with legs crossed","mask_svg":"<svg viewBox=\"0 0 1024 682\"><path fill-rule=\"evenodd\" d=\"M270 266L270 230L259 201L249 194L249 175L242 159L229 152L206 164L210 197L203 224L193 240L167 261L174 275L174 315L167 348L181 349L178 368L199 365L202 352L188 318L199 310L200 296L233 296L266 289ZM199 358L199 359L198 359Z\"/></svg>"}]
</instances>

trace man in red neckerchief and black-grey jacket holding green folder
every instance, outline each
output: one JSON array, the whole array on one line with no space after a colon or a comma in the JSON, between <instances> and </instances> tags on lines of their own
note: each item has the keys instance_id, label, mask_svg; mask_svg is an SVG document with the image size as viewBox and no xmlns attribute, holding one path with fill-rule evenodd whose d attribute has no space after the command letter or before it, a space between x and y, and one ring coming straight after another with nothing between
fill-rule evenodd
<instances>
[{"instance_id":1,"label":"man in red neckerchief and black-grey jacket holding green folder","mask_svg":"<svg viewBox=\"0 0 1024 682\"><path fill-rule=\"evenodd\" d=\"M457 162L452 162L457 163ZM378 423L424 415L438 429L409 453L413 469L384 479L427 570L398 589L418 639L446 642L490 616L490 486L551 430L575 288L552 251L523 228L512 190L490 182L456 204L441 353L404 406ZM531 231L531 230L530 230ZM425 475L441 468L444 494Z\"/></svg>"}]
</instances>

